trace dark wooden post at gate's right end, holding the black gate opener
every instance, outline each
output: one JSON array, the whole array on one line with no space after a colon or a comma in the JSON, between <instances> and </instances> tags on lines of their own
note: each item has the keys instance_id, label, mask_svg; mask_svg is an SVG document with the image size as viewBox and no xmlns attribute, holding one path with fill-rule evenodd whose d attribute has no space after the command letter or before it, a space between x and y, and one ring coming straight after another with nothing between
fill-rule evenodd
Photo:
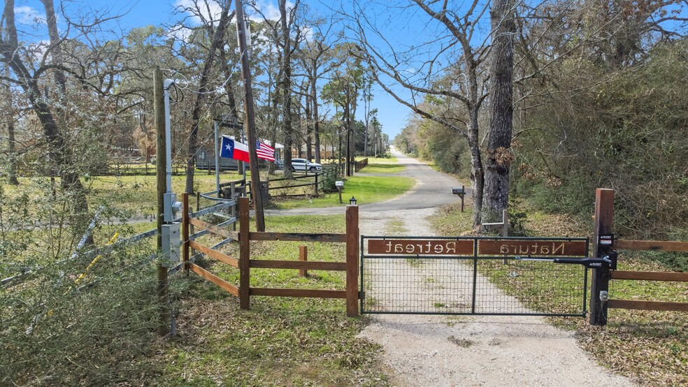
<instances>
[{"instance_id":1,"label":"dark wooden post at gate's right end, holding the black gate opener","mask_svg":"<svg viewBox=\"0 0 688 387\"><path fill-rule=\"evenodd\" d=\"M611 234L614 226L614 190L598 188L595 191L595 230L592 235L594 258L603 255L599 246L599 235ZM607 325L607 302L600 298L601 292L609 291L609 266L592 269L590 284L590 325Z\"/></svg>"}]
</instances>

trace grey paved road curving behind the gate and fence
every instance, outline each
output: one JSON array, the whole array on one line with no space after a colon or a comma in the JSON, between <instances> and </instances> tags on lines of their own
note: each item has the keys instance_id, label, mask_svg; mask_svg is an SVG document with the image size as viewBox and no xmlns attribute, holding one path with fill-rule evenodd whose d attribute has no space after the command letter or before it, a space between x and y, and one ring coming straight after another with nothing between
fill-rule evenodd
<instances>
[{"instance_id":1,"label":"grey paved road curving behind the gate and fence","mask_svg":"<svg viewBox=\"0 0 688 387\"><path fill-rule=\"evenodd\" d=\"M452 195L452 187L461 187L461 183L449 175L436 172L429 166L405 156L400 152L392 151L401 165L406 166L406 170L397 174L398 176L411 177L416 180L416 184L403 196L387 200L381 203L359 203L360 212L382 212L392 210L418 210L422 208L434 208L459 200L459 197ZM365 170L364 170L365 172ZM470 189L467 188L470 192ZM324 208L298 208L295 210L266 210L266 215L310 215L310 214L343 214L343 207L324 207Z\"/></svg>"}]
</instances>

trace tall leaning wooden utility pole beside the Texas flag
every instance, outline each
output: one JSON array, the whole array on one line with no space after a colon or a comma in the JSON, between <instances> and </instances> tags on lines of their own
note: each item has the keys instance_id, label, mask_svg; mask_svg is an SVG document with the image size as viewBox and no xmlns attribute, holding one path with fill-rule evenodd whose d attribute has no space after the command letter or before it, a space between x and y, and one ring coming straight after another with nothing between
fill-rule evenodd
<instances>
[{"instance_id":1,"label":"tall leaning wooden utility pole beside the Texas flag","mask_svg":"<svg viewBox=\"0 0 688 387\"><path fill-rule=\"evenodd\" d=\"M253 111L253 90L251 88L251 68L248 65L248 44L244 24L243 6L241 0L234 0L236 7L236 22L238 23L239 52L241 52L241 76L244 82L244 107L246 111L246 131L248 132L248 159L251 170L251 192L253 210L256 217L256 230L265 231L263 217L263 196L261 195L260 175L258 174L258 154L256 153L256 126Z\"/></svg>"}]
</instances>

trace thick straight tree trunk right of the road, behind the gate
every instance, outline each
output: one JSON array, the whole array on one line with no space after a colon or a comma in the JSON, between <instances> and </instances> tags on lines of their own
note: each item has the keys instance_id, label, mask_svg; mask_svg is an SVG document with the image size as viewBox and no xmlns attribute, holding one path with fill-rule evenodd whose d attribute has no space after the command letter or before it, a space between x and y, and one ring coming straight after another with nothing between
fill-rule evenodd
<instances>
[{"instance_id":1,"label":"thick straight tree trunk right of the road, behind the gate","mask_svg":"<svg viewBox=\"0 0 688 387\"><path fill-rule=\"evenodd\" d=\"M485 194L482 221L501 218L509 199L509 166L513 161L513 0L494 0L492 20L492 60L490 63L490 119L485 152Z\"/></svg>"}]
</instances>

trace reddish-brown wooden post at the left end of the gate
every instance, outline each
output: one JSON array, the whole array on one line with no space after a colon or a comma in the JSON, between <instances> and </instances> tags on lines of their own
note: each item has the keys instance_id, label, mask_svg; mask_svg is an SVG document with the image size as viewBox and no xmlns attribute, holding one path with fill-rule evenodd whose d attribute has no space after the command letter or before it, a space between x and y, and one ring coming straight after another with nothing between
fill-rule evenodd
<instances>
[{"instance_id":1,"label":"reddish-brown wooden post at the left end of the gate","mask_svg":"<svg viewBox=\"0 0 688 387\"><path fill-rule=\"evenodd\" d=\"M346 315L359 315L358 270L359 270L359 227L358 206L346 206Z\"/></svg>"}]
</instances>

